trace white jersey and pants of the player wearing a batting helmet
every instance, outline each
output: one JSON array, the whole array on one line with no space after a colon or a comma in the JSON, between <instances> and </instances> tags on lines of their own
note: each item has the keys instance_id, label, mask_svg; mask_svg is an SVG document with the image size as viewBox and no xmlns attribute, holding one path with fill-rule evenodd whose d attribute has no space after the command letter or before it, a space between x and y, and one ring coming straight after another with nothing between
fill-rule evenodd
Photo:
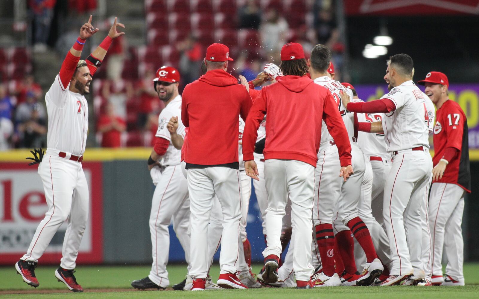
<instances>
[{"instance_id":1,"label":"white jersey and pants of the player wearing a batting helmet","mask_svg":"<svg viewBox=\"0 0 479 299\"><path fill-rule=\"evenodd\" d=\"M153 183L156 185L151 202L149 227L151 234L153 264L148 277L155 284L166 288L170 285L166 265L170 249L170 233L168 226L173 222L173 230L185 252L185 260L190 268L190 201L188 199L188 183L182 175L180 161L181 150L171 144L171 134L166 128L171 117L178 117L177 133L185 136L185 127L181 122L181 96L174 98L161 111L158 117L156 137L170 142L166 153L160 161L164 169L154 166L150 170Z\"/></svg>"}]
</instances>

